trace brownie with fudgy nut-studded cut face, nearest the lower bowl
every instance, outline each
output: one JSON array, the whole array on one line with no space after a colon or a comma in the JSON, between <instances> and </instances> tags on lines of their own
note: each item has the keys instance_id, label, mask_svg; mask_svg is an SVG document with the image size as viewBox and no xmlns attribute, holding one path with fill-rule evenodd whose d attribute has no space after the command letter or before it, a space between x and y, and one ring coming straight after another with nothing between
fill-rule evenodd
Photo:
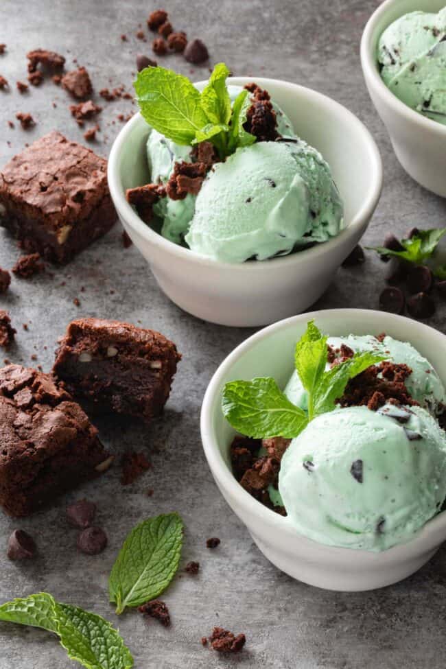
<instances>
[{"instance_id":1,"label":"brownie with fudgy nut-studded cut face, nearest the lower bowl","mask_svg":"<svg viewBox=\"0 0 446 669\"><path fill-rule=\"evenodd\" d=\"M91 410L150 421L163 410L180 357L153 330L80 318L69 324L53 371Z\"/></svg>"}]
</instances>

